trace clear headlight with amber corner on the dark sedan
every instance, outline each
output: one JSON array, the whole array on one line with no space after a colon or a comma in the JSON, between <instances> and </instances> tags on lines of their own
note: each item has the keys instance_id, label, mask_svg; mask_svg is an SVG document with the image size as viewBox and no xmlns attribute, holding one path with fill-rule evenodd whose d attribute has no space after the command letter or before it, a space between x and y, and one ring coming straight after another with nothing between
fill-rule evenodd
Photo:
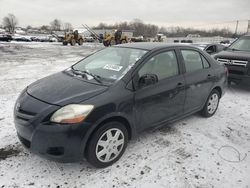
<instances>
[{"instance_id":1,"label":"clear headlight with amber corner on the dark sedan","mask_svg":"<svg viewBox=\"0 0 250 188\"><path fill-rule=\"evenodd\" d=\"M50 118L55 123L82 122L93 110L93 105L69 104L57 110Z\"/></svg>"}]
</instances>

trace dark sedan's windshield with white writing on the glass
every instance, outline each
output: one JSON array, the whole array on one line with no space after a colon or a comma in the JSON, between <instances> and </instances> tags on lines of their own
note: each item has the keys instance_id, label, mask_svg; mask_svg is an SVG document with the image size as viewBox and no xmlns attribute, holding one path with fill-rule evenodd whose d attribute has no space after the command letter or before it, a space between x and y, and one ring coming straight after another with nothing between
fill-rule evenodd
<instances>
[{"instance_id":1,"label":"dark sedan's windshield with white writing on the glass","mask_svg":"<svg viewBox=\"0 0 250 188\"><path fill-rule=\"evenodd\" d=\"M72 66L72 69L88 72L102 81L114 82L121 79L146 52L132 48L110 47L81 60Z\"/></svg>"}]
</instances>

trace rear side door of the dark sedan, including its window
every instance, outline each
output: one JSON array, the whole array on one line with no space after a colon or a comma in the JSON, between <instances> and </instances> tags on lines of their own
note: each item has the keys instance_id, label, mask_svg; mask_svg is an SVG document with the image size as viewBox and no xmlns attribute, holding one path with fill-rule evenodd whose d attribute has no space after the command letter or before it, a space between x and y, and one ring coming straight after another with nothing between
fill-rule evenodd
<instances>
[{"instance_id":1,"label":"rear side door of the dark sedan, including its window","mask_svg":"<svg viewBox=\"0 0 250 188\"><path fill-rule=\"evenodd\" d=\"M200 109L213 85L214 74L207 59L194 49L180 50L185 65L186 100L184 112Z\"/></svg>"}]
</instances>

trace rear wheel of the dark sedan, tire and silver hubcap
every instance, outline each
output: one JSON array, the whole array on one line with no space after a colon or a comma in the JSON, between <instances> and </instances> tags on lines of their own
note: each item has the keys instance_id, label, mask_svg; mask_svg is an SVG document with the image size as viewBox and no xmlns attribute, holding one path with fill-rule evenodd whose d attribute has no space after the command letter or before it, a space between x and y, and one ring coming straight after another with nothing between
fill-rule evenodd
<instances>
[{"instance_id":1,"label":"rear wheel of the dark sedan, tire and silver hubcap","mask_svg":"<svg viewBox=\"0 0 250 188\"><path fill-rule=\"evenodd\" d=\"M202 111L201 115L204 117L211 117L215 114L220 103L220 93L214 89L210 93Z\"/></svg>"}]
</instances>

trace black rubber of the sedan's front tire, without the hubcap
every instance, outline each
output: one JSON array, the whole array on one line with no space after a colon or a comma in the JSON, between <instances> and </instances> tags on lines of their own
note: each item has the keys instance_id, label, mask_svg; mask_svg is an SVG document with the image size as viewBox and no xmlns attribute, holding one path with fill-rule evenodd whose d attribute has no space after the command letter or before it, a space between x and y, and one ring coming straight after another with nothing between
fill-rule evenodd
<instances>
[{"instance_id":1,"label":"black rubber of the sedan's front tire, without the hubcap","mask_svg":"<svg viewBox=\"0 0 250 188\"><path fill-rule=\"evenodd\" d=\"M107 163L101 162L97 159L97 156L96 156L96 145L100 137L103 135L103 133L112 128L117 128L123 132L124 145L123 145L122 151L114 160L107 162ZM121 156L126 150L127 143L128 143L128 131L122 123L115 122L115 121L105 123L99 129L95 130L94 134L90 137L90 140L88 142L87 149L86 149L86 158L90 164L92 164L93 166L97 168L104 168L104 167L110 166L121 158Z\"/></svg>"}]
</instances>

